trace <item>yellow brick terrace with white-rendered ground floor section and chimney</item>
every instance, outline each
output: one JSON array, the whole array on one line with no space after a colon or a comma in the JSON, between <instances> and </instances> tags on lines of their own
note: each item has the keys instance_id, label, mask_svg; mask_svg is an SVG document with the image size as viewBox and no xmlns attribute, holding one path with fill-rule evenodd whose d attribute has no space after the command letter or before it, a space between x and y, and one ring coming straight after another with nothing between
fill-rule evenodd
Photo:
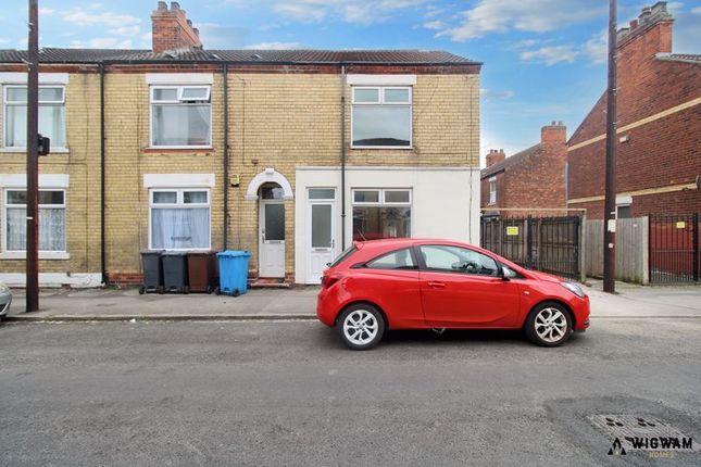
<instances>
[{"instance_id":1,"label":"yellow brick terrace with white-rendered ground floor section and chimney","mask_svg":"<svg viewBox=\"0 0 701 467\"><path fill-rule=\"evenodd\" d=\"M241 249L318 283L353 239L479 243L480 64L440 51L43 49L40 283L140 281L143 250ZM0 280L24 281L26 52L0 51Z\"/></svg>"}]
</instances>

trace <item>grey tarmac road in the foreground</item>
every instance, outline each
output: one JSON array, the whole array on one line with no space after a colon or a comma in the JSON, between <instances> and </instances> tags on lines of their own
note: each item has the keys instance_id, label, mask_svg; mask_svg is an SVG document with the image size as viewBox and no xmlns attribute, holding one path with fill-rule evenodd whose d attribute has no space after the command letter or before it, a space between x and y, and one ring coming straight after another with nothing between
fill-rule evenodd
<instances>
[{"instance_id":1,"label":"grey tarmac road in the foreground","mask_svg":"<svg viewBox=\"0 0 701 467\"><path fill-rule=\"evenodd\" d=\"M309 323L0 326L0 465L701 465L609 456L589 416L701 442L701 319L601 319L560 349Z\"/></svg>"}]
</instances>

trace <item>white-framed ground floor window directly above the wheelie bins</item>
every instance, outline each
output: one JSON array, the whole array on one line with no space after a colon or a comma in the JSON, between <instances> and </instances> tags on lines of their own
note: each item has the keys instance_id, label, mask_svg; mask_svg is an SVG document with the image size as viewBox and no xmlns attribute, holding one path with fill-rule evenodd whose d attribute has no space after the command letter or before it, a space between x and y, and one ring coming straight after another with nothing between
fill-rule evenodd
<instances>
[{"instance_id":1,"label":"white-framed ground floor window directly above the wheelie bins","mask_svg":"<svg viewBox=\"0 0 701 467\"><path fill-rule=\"evenodd\" d=\"M210 249L210 190L152 189L149 204L149 249Z\"/></svg>"}]
</instances>

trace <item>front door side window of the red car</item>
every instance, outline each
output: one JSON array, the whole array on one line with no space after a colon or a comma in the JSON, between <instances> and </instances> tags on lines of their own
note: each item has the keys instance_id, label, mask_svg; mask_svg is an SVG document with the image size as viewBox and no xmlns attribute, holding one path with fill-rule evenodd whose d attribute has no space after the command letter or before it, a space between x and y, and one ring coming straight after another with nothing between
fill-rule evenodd
<instances>
[{"instance_id":1,"label":"front door side window of the red car","mask_svg":"<svg viewBox=\"0 0 701 467\"><path fill-rule=\"evenodd\" d=\"M443 244L418 247L427 269L497 276L499 266L491 257L476 251Z\"/></svg>"}]
</instances>

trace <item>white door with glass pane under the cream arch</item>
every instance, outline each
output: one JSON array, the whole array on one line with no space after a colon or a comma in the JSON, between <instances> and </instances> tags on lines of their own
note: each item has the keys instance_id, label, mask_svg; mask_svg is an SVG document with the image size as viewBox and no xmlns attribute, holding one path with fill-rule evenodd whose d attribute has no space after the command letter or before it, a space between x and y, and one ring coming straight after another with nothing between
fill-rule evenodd
<instances>
[{"instance_id":1,"label":"white door with glass pane under the cream arch","mask_svg":"<svg viewBox=\"0 0 701 467\"><path fill-rule=\"evenodd\" d=\"M285 277L285 204L262 200L260 225L260 277Z\"/></svg>"}]
</instances>

